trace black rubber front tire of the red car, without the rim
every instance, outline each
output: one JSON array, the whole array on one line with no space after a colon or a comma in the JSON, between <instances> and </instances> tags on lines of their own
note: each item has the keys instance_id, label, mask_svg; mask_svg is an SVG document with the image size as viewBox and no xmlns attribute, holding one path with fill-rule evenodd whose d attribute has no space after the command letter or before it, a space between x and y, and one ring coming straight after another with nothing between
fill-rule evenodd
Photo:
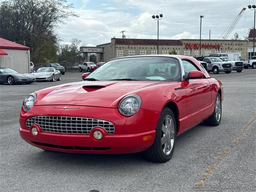
<instances>
[{"instance_id":1,"label":"black rubber front tire of the red car, without the rim","mask_svg":"<svg viewBox=\"0 0 256 192\"><path fill-rule=\"evenodd\" d=\"M174 122L174 142L170 150L170 153L168 155L166 155L163 151L163 145L161 140L163 136L162 126L167 116L171 116ZM172 110L170 110L170 108L165 107L160 114L160 117L156 126L156 136L155 136L154 143L152 144L152 146L150 146L148 150L144 152L145 156L148 160L153 162L166 162L170 160L170 158L172 157L172 154L175 148L175 143L176 143L176 120Z\"/></svg>"}]
</instances>

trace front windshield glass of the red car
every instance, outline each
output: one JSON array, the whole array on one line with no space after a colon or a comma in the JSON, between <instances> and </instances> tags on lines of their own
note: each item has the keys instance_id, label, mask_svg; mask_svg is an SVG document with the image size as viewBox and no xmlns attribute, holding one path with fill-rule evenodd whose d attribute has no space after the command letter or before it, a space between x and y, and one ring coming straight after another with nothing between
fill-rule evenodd
<instances>
[{"instance_id":1,"label":"front windshield glass of the red car","mask_svg":"<svg viewBox=\"0 0 256 192\"><path fill-rule=\"evenodd\" d=\"M89 74L87 78L96 80L179 81L180 65L178 60L168 57L121 58L106 62Z\"/></svg>"}]
</instances>

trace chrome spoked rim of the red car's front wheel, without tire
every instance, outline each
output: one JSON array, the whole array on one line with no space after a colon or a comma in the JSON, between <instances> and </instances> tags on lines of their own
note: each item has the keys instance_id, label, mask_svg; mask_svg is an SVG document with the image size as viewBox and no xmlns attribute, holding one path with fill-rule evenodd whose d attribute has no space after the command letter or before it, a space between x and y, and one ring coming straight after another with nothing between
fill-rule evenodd
<instances>
[{"instance_id":1,"label":"chrome spoked rim of the red car's front wheel, without tire","mask_svg":"<svg viewBox=\"0 0 256 192\"><path fill-rule=\"evenodd\" d=\"M175 138L175 131L174 131L174 121L172 116L167 115L164 118L164 122L162 124L162 137L161 137L161 144L162 149L165 155L169 155L172 151L172 147L174 144Z\"/></svg>"}]
</instances>

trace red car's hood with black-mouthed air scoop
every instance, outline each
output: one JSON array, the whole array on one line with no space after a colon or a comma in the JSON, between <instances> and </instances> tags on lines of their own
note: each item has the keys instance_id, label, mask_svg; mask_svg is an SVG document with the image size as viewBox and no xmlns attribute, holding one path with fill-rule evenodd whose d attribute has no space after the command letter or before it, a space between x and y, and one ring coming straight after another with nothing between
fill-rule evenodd
<instances>
[{"instance_id":1,"label":"red car's hood with black-mouthed air scoop","mask_svg":"<svg viewBox=\"0 0 256 192\"><path fill-rule=\"evenodd\" d=\"M37 91L37 99L34 105L80 105L117 108L119 101L124 96L138 94L145 89L155 88L162 83L147 81L82 81L62 84Z\"/></svg>"}]
</instances>

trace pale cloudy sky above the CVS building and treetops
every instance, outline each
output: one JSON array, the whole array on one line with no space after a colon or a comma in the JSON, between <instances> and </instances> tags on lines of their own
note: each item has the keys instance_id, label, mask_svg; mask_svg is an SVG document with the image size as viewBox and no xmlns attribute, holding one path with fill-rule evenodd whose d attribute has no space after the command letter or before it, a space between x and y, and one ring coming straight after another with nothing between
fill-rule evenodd
<instances>
[{"instance_id":1,"label":"pale cloudy sky above the CVS building and treetops","mask_svg":"<svg viewBox=\"0 0 256 192\"><path fill-rule=\"evenodd\" d=\"M108 43L126 30L126 38L157 38L157 21L152 15L163 14L159 21L160 39L199 38L200 15L202 39L218 39L243 7L246 10L228 39L237 32L241 39L253 26L255 0L68 0L79 18L70 18L57 32L63 43L72 38L82 46Z\"/></svg>"}]
</instances>

